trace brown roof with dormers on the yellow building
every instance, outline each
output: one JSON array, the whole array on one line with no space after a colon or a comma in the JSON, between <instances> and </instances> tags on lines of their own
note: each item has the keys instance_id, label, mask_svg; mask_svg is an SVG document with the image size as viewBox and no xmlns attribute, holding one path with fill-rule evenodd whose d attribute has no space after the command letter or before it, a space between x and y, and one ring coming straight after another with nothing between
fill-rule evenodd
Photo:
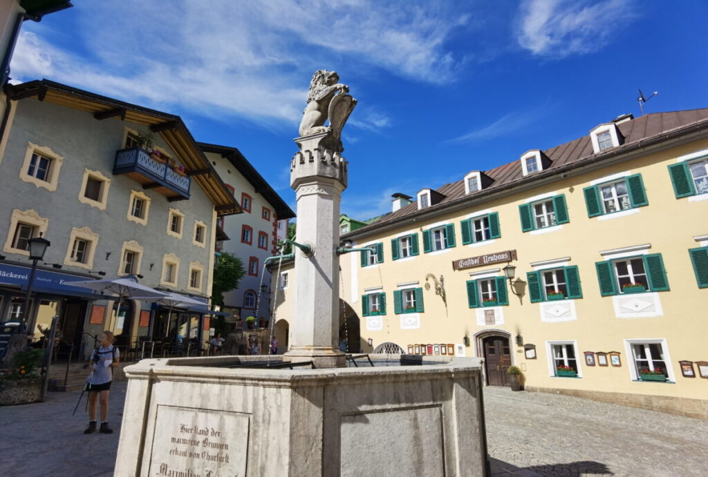
<instances>
[{"instance_id":1,"label":"brown roof with dormers on the yellow building","mask_svg":"<svg viewBox=\"0 0 708 477\"><path fill-rule=\"evenodd\" d=\"M611 150L605 150L601 153L595 154L593 153L593 145L590 143L590 135L586 134L581 138L573 139L573 141L547 149L546 151L543 151L543 153L552 160L551 167L548 168L549 171L552 171L573 163L578 163L578 165L581 165L580 163L583 160L593 158L593 156L596 156L597 158L604 155L614 157L617 155L617 152L628 150L632 148L632 146L636 146L639 141L656 139L657 136L668 134L674 129L681 129L687 126L697 125L702 122L705 122L705 126L708 126L708 108L645 114L644 116L636 119L631 119L629 121L617 124L619 132L622 133L622 136L624 137L624 143L617 148L611 148ZM521 179L532 180L538 175L535 173L533 175L523 177L521 163L518 159L482 172L494 179L494 182L483 191L467 194L469 199L472 199L477 194L486 194L488 192L492 192L494 189L500 189L508 184L513 184ZM545 170L542 172L545 172ZM387 214L376 223L367 225L366 227L350 233L353 235L361 235L362 232L373 232L382 225L412 216L415 213L421 213L422 215L423 213L429 211L444 209L447 204L459 201L459 199L466 196L464 194L464 181L462 179L457 182L445 184L442 187L437 187L435 190L440 192L440 194L445 195L445 198L435 206L430 206L422 211L418 211L418 204L414 201L407 206L399 208L399 210L395 212Z\"/></svg>"}]
</instances>

